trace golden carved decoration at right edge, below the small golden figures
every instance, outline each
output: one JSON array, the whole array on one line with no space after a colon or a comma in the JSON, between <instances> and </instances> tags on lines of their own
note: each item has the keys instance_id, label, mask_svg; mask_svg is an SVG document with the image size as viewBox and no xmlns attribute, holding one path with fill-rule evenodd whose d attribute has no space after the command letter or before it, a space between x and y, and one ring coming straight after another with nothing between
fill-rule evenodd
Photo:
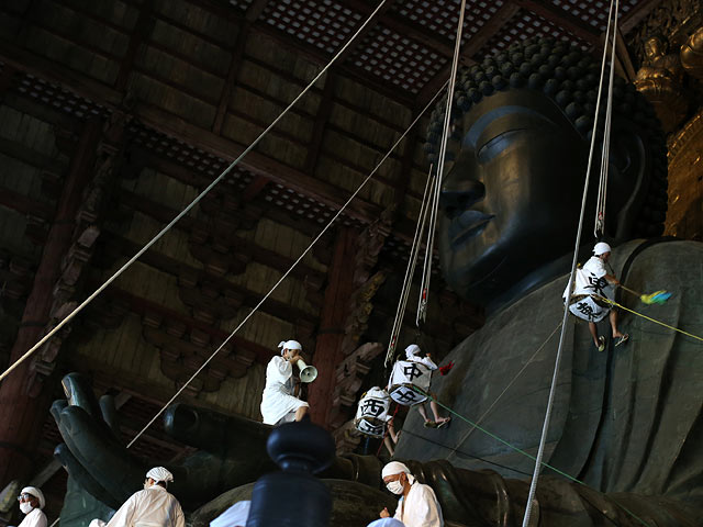
<instances>
[{"instance_id":1,"label":"golden carved decoration at right edge, below the small golden figures","mask_svg":"<svg viewBox=\"0 0 703 527\"><path fill-rule=\"evenodd\" d=\"M669 210L665 234L703 242L703 111L669 146Z\"/></svg>"}]
</instances>

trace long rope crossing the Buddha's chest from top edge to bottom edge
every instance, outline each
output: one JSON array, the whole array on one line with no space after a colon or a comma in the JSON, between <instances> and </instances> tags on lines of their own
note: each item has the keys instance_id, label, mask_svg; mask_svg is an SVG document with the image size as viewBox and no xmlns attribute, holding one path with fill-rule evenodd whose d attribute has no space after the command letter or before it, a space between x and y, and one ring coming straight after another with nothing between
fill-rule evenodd
<instances>
[{"instance_id":1,"label":"long rope crossing the Buddha's chest from top edge to bottom edge","mask_svg":"<svg viewBox=\"0 0 703 527\"><path fill-rule=\"evenodd\" d=\"M617 2L616 2L616 11L615 16L617 16ZM607 21L607 30L606 30L606 41L607 41L607 32L611 27L611 20L613 19L613 0L611 0L611 8L609 12L609 21ZM579 215L579 227L577 229L576 243L573 246L573 259L571 261L571 272L569 273L569 283L567 285L567 291L571 291L571 287L573 285L573 276L576 274L576 266L579 257L579 247L581 245L581 233L583 232L583 217L585 216L585 200L589 192L589 181L591 178L591 165L593 162L593 150L595 148L595 135L598 132L598 116L601 103L601 90L603 86L603 76L605 72L605 57L607 56L607 46L603 46L603 61L601 64L601 80L599 82L599 91L598 91L598 100L595 103L595 119L593 119L593 134L591 135L591 148L589 152L589 162L585 169L585 181L583 183L583 195L581 197L581 213ZM612 92L609 93L609 97L613 97ZM547 438L547 431L549 429L549 421L551 418L551 408L554 406L554 397L556 393L557 386L557 378L559 377L559 365L561 362L561 351L563 349L563 340L567 333L567 318L569 316L569 296L567 295L567 300L563 303L563 316L561 318L561 332L559 334L559 347L557 348L557 357L555 359L554 365L554 373L551 375L551 386L549 388L549 399L547 400L547 410L545 412L545 421L542 426L542 436L539 437L539 448L537 449L537 457L535 458L535 470L532 476L532 482L529 484L529 494L527 495L527 503L525 503L525 516L523 517L523 527L528 527L529 525L529 516L532 514L533 501L535 498L535 493L537 491L537 481L539 480L539 471L542 470L542 458L545 452L545 441Z\"/></svg>"}]
</instances>

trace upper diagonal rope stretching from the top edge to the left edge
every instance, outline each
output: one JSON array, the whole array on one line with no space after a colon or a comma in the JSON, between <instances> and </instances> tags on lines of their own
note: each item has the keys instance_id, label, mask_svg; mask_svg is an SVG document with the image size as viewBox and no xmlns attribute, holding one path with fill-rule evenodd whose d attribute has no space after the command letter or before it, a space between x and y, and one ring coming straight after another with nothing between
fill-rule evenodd
<instances>
[{"instance_id":1,"label":"upper diagonal rope stretching from the top edge to the left edge","mask_svg":"<svg viewBox=\"0 0 703 527\"><path fill-rule=\"evenodd\" d=\"M32 348L30 348L27 352L25 352L12 366L10 366L2 374L0 374L0 382L2 382L2 380L5 377L8 377L14 369L16 369L22 362L29 359L32 356L32 354L34 354L37 349L40 349L40 347L42 347L49 338L52 338L56 334L56 332L58 332L62 327L68 324L78 313L80 313L88 304L90 304L96 299L96 296L98 296L102 291L104 291L105 288L108 288L108 285L114 282L118 279L118 277L120 277L130 266L132 266L132 264L134 264L144 253L146 253L149 247L152 247L174 225L176 225L176 223L178 223L178 221L181 217L188 214L188 212L193 206L196 206L196 204L198 204L200 200L202 200L205 197L205 194L208 194L208 192L210 192L220 181L222 181L222 179L224 179L224 177L227 173L230 173L236 165L238 165L238 162L244 158L244 156L246 156L249 152L252 152L252 149L256 145L258 145L261 138L266 134L268 134L270 130L274 126L276 126L276 124L278 124L278 122L289 112L289 110L293 108L293 105L295 105L295 103L308 92L308 90L310 90L310 88L312 88L314 83L317 82L317 80L324 75L324 72L327 71L327 69L330 69L330 67L334 64L334 61L345 52L347 47L349 47L349 45L354 42L354 40L359 35L359 33L364 31L364 27L366 27L366 25L371 21L371 19L376 15L376 13L383 7L383 4L387 1L388 0L381 0L381 3L378 4L378 7L373 10L373 12L369 15L369 18L366 19L366 21L359 26L359 29L356 31L356 33L354 33L352 38L349 38L346 42L346 44L342 46L342 48L337 52L337 54L334 57L332 57L332 60L330 60L327 65L320 70L320 72L315 76L314 79L310 81L310 83L303 89L303 91L301 91L300 94L295 99L293 99L293 101L280 113L280 115L276 117L274 122L269 124L268 127L264 132L261 132L259 136L256 139L254 139L254 142L249 146L247 146L244 149L244 152L239 154L239 156L234 161L232 161L232 164L227 168L225 168L224 171L220 176L217 176L217 178L212 183L210 183L205 188L205 190L203 190L200 194L198 194L198 197L186 209L183 209L180 214L178 214L174 220L171 220L170 223L166 225L156 236L154 236L154 238L152 238L150 242L148 242L144 247L142 247L142 249L140 249L140 251L136 255L134 255L124 266L118 269L118 271L114 274L112 274L112 277L110 277L102 285L100 285L90 296L83 300L83 302L80 305L78 305L78 307L76 307L74 311L71 311L56 327L54 327L49 333L47 333L38 343L32 346Z\"/></svg>"}]
</instances>

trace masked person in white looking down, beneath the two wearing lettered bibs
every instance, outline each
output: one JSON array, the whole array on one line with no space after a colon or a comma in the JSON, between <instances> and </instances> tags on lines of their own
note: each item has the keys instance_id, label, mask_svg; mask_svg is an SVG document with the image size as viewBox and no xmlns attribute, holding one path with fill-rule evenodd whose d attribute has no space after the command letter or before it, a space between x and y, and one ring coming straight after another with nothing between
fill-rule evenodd
<instances>
[{"instance_id":1,"label":"masked person in white looking down, beneath the two wearing lettered bibs","mask_svg":"<svg viewBox=\"0 0 703 527\"><path fill-rule=\"evenodd\" d=\"M435 491L416 481L404 463L391 461L383 467L381 478L390 492L401 495L393 518L405 527L444 527L442 506ZM383 508L380 516L390 517L388 508Z\"/></svg>"}]
</instances>

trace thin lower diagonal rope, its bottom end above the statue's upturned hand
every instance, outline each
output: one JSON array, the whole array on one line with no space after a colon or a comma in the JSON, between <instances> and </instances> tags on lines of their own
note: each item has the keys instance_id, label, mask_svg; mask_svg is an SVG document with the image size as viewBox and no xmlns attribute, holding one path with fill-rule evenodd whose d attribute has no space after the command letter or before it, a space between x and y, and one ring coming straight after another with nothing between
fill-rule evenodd
<instances>
[{"instance_id":1,"label":"thin lower diagonal rope, its bottom end above the statue's upturned hand","mask_svg":"<svg viewBox=\"0 0 703 527\"><path fill-rule=\"evenodd\" d=\"M295 268L295 266L305 257L305 255L308 253L310 253L310 250L312 249L312 247L317 243L317 240L324 236L324 234L327 232L327 229L332 226L332 224L335 222L335 220L337 217L339 217L339 215L344 212L344 210L349 205L349 203L352 203L352 200L354 200L357 194L361 191L361 189L366 186L366 183L373 177L373 175L376 173L376 171L379 169L379 167L383 164L383 161L386 161L386 159L388 159L388 157L391 155L391 153L395 149L395 147L405 138L405 135L408 135L408 133L411 131L411 128L415 125L415 123L417 123L417 121L420 120L420 117L427 111L427 109L434 103L435 99L439 96L439 93L442 92L442 90L444 90L444 86L442 88L439 88L439 90L437 91L437 93L432 98L432 100L427 103L427 105L422 110L422 112L420 112L420 114L417 114L417 116L413 120L412 123L410 123L410 126L408 126L408 128L405 130L405 132L403 132L403 135L401 135L398 141L395 143L393 143L393 146L391 146L391 148L388 150L388 153L381 158L381 160L376 165L376 167L373 167L373 170L371 170L371 172L366 177L366 179L364 181L361 181L361 184L359 184L359 187L354 191L354 193L349 197L349 199L344 203L344 205L342 205L342 209L339 209L337 211L337 213L332 217L332 220L330 220L330 223L327 223L327 225L325 225L325 227L320 232L320 234L315 237L315 239L313 239L310 245L305 248L305 250L303 250L303 253L298 257L298 259L290 266L290 268L283 273L283 276L274 284L274 287L268 291L268 293L266 293L266 295L264 295L264 298L259 301L258 304L256 304L254 306L254 309L252 309L252 311L249 312L248 315L246 315L246 317L244 317L244 319L239 323L239 325L237 327L234 328L234 330L230 334L230 336L220 345L220 347L217 347L217 349L215 349L212 355L202 363L202 366L200 368L198 368L198 371L196 371L192 375L190 375L190 379L188 379L188 381L186 381L186 383L176 392L176 394L168 400L168 402L161 407L161 410L158 411L158 413L152 418L152 421L149 421L146 426L144 428L142 428L140 430L140 433L130 441L130 444L127 445L127 448L130 448L132 445L134 445L134 442L142 436L142 434L144 434L149 426L152 426L154 424L154 422L158 418L159 415L161 415L164 413L164 411L168 407L169 404L171 404L174 401L176 401L176 399L183 392L183 390L186 390L186 388L193 381L193 379L196 379L196 377L198 377L198 374L200 374L200 372L210 363L210 361L212 359L215 358L215 356L220 352L220 350L222 348L224 348L226 346L226 344L230 341L230 339L232 339L232 337L234 337L234 335L242 328L242 326L244 326L244 324L246 324L246 322L252 317L252 315L254 315L254 313L256 313L256 311L261 306L261 304L264 302L266 302L266 300L271 295L271 293L274 293L274 291L276 291L276 289L281 284L281 282L283 280L286 280L286 278L288 278L288 276L293 271L293 269Z\"/></svg>"}]
</instances>

